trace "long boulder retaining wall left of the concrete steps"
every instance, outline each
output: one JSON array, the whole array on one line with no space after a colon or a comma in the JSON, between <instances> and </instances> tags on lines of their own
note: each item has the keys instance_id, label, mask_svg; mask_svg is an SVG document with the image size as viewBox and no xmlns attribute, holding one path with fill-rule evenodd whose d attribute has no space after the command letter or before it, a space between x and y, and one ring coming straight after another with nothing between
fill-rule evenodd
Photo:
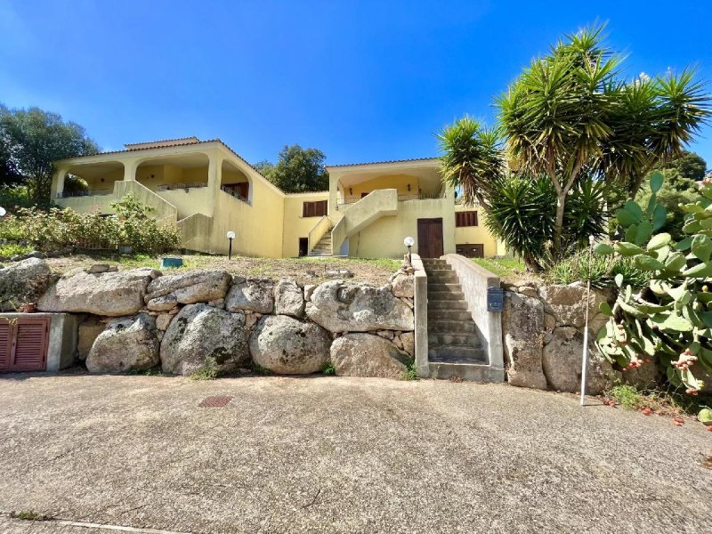
<instances>
[{"instance_id":1,"label":"long boulder retaining wall left of the concrete steps","mask_svg":"<svg viewBox=\"0 0 712 534\"><path fill-rule=\"evenodd\" d=\"M0 270L0 308L82 314L77 352L92 372L160 364L169 374L257 365L295 375L399 378L415 354L413 270L372 287L331 280L246 278L227 271L163 274L93 265L53 276L31 258Z\"/></svg>"}]
</instances>

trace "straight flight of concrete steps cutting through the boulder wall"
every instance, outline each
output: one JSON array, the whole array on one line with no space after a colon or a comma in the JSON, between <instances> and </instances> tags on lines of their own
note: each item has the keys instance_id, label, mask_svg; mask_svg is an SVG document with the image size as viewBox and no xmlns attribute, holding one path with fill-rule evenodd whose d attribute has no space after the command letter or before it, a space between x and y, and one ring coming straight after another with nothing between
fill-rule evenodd
<instances>
[{"instance_id":1,"label":"straight flight of concrete steps cutting through the boulder wall","mask_svg":"<svg viewBox=\"0 0 712 534\"><path fill-rule=\"evenodd\" d=\"M457 274L445 260L423 259L428 276L428 366L433 378L481 380L487 352Z\"/></svg>"}]
</instances>

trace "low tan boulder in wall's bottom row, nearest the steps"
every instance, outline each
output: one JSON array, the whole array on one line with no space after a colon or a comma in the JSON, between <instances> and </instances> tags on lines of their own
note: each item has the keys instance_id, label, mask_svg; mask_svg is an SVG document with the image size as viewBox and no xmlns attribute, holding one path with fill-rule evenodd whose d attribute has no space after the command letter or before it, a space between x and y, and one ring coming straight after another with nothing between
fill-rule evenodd
<instances>
[{"instance_id":1,"label":"low tan boulder in wall's bottom row, nearest the steps","mask_svg":"<svg viewBox=\"0 0 712 534\"><path fill-rule=\"evenodd\" d=\"M336 375L401 378L409 360L406 352L373 334L344 334L331 345Z\"/></svg>"}]
</instances>

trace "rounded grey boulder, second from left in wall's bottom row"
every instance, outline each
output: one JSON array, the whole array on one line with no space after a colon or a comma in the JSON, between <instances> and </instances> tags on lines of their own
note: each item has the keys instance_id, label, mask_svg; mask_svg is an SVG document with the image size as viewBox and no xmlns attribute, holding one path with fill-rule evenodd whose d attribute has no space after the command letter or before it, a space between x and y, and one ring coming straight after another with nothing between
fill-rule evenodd
<instances>
[{"instance_id":1,"label":"rounded grey boulder, second from left in wall's bottom row","mask_svg":"<svg viewBox=\"0 0 712 534\"><path fill-rule=\"evenodd\" d=\"M207 304L185 306L161 341L163 371L174 375L190 376L206 365L229 373L248 359L245 314Z\"/></svg>"}]
</instances>

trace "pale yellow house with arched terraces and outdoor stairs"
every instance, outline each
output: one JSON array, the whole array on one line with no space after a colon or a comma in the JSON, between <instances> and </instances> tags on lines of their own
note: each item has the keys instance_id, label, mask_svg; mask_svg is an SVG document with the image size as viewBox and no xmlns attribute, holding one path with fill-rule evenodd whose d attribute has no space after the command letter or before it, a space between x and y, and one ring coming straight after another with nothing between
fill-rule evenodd
<instances>
[{"instance_id":1,"label":"pale yellow house with arched terraces and outdoor stairs","mask_svg":"<svg viewBox=\"0 0 712 534\"><path fill-rule=\"evenodd\" d=\"M225 254L228 231L239 255L400 257L415 239L423 257L503 255L477 206L461 206L441 182L437 158L328 166L329 190L287 194L220 140L197 137L125 145L125 150L56 162L53 198L77 211L111 213L133 194L182 247ZM65 191L76 175L88 190Z\"/></svg>"}]
</instances>

